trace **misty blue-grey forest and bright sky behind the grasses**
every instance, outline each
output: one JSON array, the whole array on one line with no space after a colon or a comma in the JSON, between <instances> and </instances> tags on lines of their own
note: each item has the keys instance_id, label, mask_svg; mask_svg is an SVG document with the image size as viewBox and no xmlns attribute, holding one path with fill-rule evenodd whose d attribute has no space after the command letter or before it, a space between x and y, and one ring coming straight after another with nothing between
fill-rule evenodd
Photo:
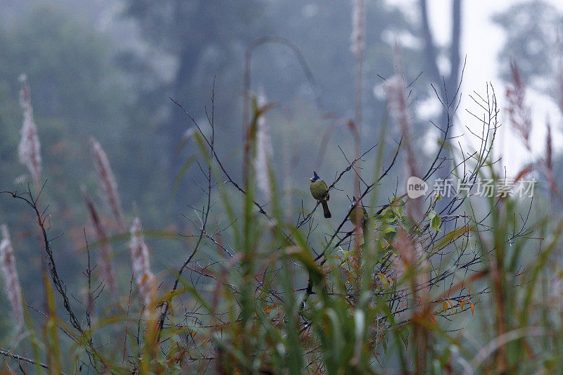
<instances>
[{"instance_id":1,"label":"misty blue-grey forest and bright sky behind the grasses","mask_svg":"<svg viewBox=\"0 0 563 375\"><path fill-rule=\"evenodd\" d=\"M557 1L445 3L366 1L362 149L379 143L391 152L400 139L393 128L380 138L384 82L397 72L396 44L405 80L413 82L413 132L422 159L430 157L440 136L430 121L443 126L430 84L438 92L442 87L455 92L467 56L461 110L454 118L456 134L464 134L466 125L479 126L464 113L466 94L493 82L502 108L513 59L529 84L534 121L533 156L515 146L510 129L500 131L497 156L516 171L542 155L548 116L560 143L563 8ZM23 120L18 77L25 74L42 142L42 199L49 203L49 234L56 238L53 248L64 277L82 277L84 229L93 241L81 193L81 186L97 193L91 136L108 154L129 219L139 215L144 229L158 230L147 235L156 269L173 268L184 258L182 245L188 241L178 234L193 230L182 215L197 220L193 207L201 208L205 193L194 163L198 149L189 138L193 124L170 98L208 130L205 108L211 108L215 81L217 153L240 180L244 54L253 41L270 36L284 38L298 54L281 44L256 48L251 91L278 103L267 115L274 163L279 189L291 194L288 215L298 215L302 201L314 204L308 196L312 170L331 180L348 165L343 153L353 155L353 137L342 125L355 116L351 9L348 1L326 0L0 1L0 190L21 190L29 179L17 152ZM557 160L555 169L561 170ZM333 210L348 207L342 195L332 200ZM108 210L104 215L118 232ZM24 294L39 298L34 285L42 253L30 212L1 197L0 222L11 229ZM163 234L177 239L177 246L159 247ZM114 245L124 268L129 267L126 249L127 241ZM122 275L122 286L128 287L128 275ZM82 292L81 286L69 285ZM6 322L0 324L6 329Z\"/></svg>"}]
</instances>

